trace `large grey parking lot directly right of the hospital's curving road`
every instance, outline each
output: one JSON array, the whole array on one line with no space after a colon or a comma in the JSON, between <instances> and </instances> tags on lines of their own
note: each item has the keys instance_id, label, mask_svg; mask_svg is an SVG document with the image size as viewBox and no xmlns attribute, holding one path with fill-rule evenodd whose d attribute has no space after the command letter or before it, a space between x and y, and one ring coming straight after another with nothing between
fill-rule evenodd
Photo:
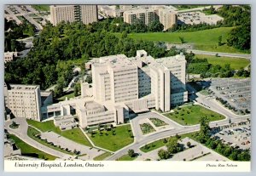
<instances>
[{"instance_id":1,"label":"large grey parking lot directly right of the hospital's curving road","mask_svg":"<svg viewBox=\"0 0 256 176\"><path fill-rule=\"evenodd\" d=\"M237 111L251 111L251 80L224 78L212 80L210 89Z\"/></svg>"}]
</instances>

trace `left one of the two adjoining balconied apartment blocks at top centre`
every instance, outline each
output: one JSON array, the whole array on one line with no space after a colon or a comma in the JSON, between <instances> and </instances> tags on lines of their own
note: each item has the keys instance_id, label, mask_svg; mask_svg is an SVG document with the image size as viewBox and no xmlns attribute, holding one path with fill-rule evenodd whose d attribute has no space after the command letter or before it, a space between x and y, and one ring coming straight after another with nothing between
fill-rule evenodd
<instances>
[{"instance_id":1,"label":"left one of the two adjoining balconied apartment blocks at top centre","mask_svg":"<svg viewBox=\"0 0 256 176\"><path fill-rule=\"evenodd\" d=\"M138 20L143 22L145 25L153 22L156 17L154 13L154 9L131 9L127 10L123 14L124 22L133 24Z\"/></svg>"}]
</instances>

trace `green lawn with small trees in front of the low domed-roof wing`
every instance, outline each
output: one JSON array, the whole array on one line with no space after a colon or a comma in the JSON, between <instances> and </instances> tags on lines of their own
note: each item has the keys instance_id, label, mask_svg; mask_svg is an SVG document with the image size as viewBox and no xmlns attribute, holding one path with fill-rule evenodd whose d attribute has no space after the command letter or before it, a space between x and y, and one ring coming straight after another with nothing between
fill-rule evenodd
<instances>
[{"instance_id":1,"label":"green lawn with small trees in front of the low domed-roof wing","mask_svg":"<svg viewBox=\"0 0 256 176\"><path fill-rule=\"evenodd\" d=\"M106 135L106 133L108 135ZM133 142L133 136L131 137L131 134L131 125L123 125L115 128L114 135L111 131L103 131L102 135L100 135L99 131L94 131L93 136L88 135L96 146L116 151Z\"/></svg>"}]
</instances>

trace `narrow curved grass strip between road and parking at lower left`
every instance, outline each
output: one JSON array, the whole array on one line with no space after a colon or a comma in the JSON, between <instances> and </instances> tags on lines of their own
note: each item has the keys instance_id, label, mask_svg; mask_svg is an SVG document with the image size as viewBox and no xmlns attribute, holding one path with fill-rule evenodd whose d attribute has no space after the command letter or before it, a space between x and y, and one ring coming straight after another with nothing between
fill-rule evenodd
<instances>
[{"instance_id":1,"label":"narrow curved grass strip between road and parking at lower left","mask_svg":"<svg viewBox=\"0 0 256 176\"><path fill-rule=\"evenodd\" d=\"M54 149L54 150L58 150L58 151L61 151L61 152L63 152L63 153L67 153L67 154L69 154L69 155L73 155L73 152L72 152L72 151L68 152L68 151L65 150L65 149L62 150L62 149L59 148L58 146L50 145L49 143L47 143L46 140L38 139L36 136L37 136L39 133L40 133L40 132L39 132L37 129L35 129L35 128L32 128L32 127L28 127L28 128L27 128L27 135L28 135L30 138L32 138L32 139L38 141L38 143L40 143L40 144L42 144L42 145L45 145L45 146L48 146L49 148L52 148L52 149Z\"/></svg>"}]
</instances>

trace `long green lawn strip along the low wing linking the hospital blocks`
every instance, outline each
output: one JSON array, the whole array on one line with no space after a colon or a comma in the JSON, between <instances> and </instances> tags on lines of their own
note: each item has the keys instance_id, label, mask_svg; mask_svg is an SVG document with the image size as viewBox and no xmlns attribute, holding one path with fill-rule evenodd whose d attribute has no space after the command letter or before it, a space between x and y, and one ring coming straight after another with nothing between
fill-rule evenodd
<instances>
[{"instance_id":1,"label":"long green lawn strip along the low wing linking the hospital blocks","mask_svg":"<svg viewBox=\"0 0 256 176\"><path fill-rule=\"evenodd\" d=\"M89 140L84 136L84 133L80 130L80 128L73 128L73 129L61 131L60 128L55 127L55 124L53 121L37 122L37 121L32 121L27 119L26 122L43 132L53 131L81 145L91 146Z\"/></svg>"}]
</instances>

